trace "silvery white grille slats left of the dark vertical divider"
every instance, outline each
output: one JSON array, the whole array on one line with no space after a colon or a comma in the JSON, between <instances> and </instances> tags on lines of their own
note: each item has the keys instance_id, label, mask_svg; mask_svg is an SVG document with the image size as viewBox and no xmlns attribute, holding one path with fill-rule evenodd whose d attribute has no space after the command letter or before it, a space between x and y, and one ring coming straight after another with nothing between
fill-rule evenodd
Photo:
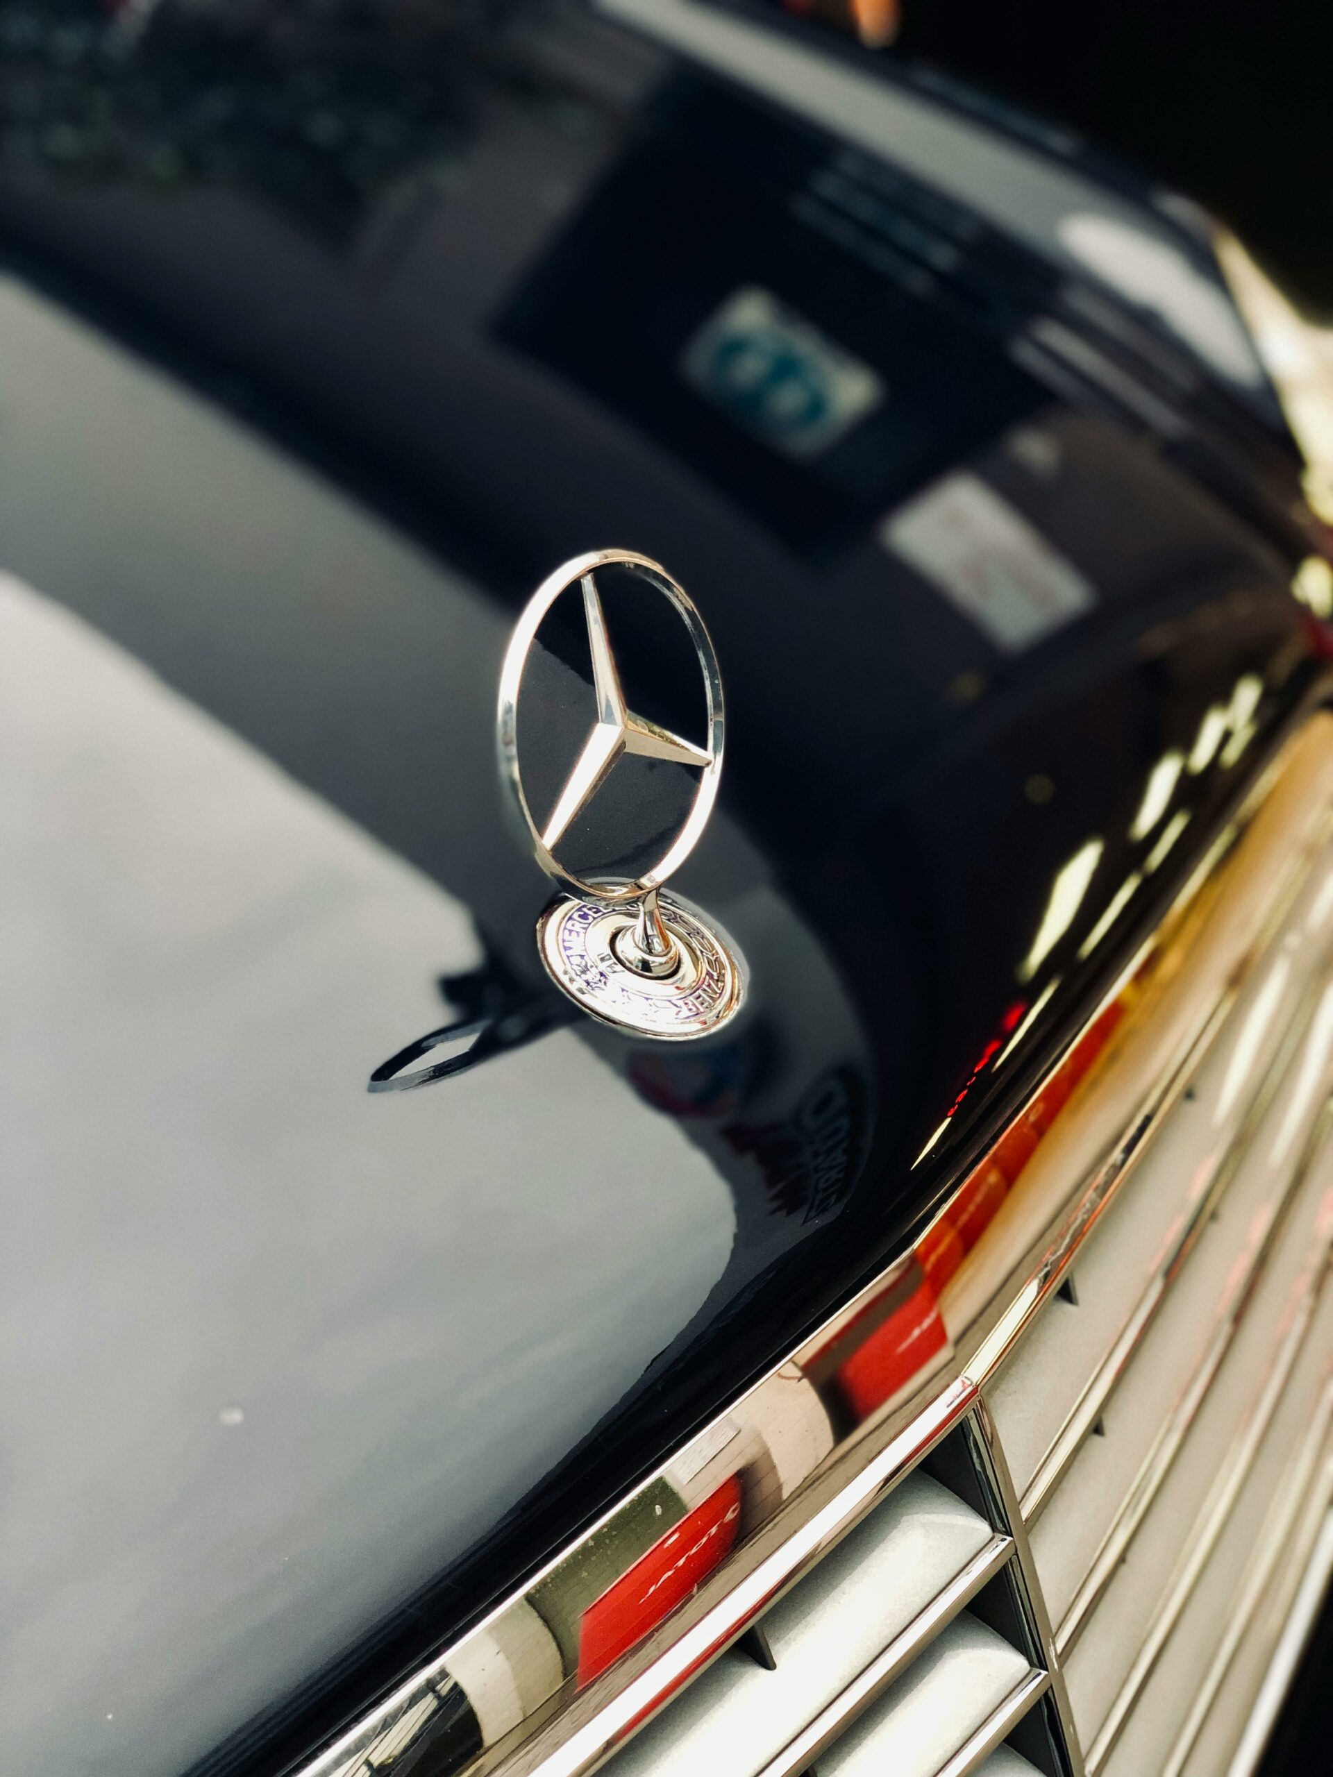
<instances>
[{"instance_id":1,"label":"silvery white grille slats left of the dark vertical divider","mask_svg":"<svg viewBox=\"0 0 1333 1777\"><path fill-rule=\"evenodd\" d=\"M981 1768L1050 1679L978 1439L972 1425L946 1439L606 1770L862 1777L887 1757L901 1777ZM997 1770L1063 1772L1049 1724L1036 1738L1040 1766L1004 1749Z\"/></svg>"}]
</instances>

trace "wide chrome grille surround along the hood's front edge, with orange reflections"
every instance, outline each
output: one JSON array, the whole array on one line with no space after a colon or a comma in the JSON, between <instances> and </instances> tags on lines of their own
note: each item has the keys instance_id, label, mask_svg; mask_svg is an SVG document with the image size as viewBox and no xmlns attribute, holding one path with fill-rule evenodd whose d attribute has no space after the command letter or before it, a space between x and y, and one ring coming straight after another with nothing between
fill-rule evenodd
<instances>
[{"instance_id":1,"label":"wide chrome grille surround along the hood's front edge, with orange reflections","mask_svg":"<svg viewBox=\"0 0 1333 1777\"><path fill-rule=\"evenodd\" d=\"M581 1690L572 1674L567 1674L563 1685L544 1702L530 1704L526 1717L505 1738L473 1759L469 1777L501 1770L505 1777L581 1777L592 1770L647 1715L736 1640L972 1411L981 1384L1059 1285L1065 1267L1155 1130L1173 1093L1184 1084L1187 1068L1219 1027L1241 979L1280 919L1287 894L1296 892L1303 864L1322 844L1331 809L1333 716L1317 713L1251 787L1237 821L1200 862L1157 935L1068 1045L1061 1064L1095 1034L1102 1013L1116 1000L1129 976L1152 956L1148 990L1111 1040L1106 1056L1059 1112L1052 1132L1042 1137L1020 1185L1008 1194L994 1219L983 1223L985 1231L974 1237L953 1285L937 1297L926 1285L917 1249L903 1255L834 1315L819 1335L775 1367L627 1500L620 1500L590 1535L615 1526L627 1505L649 1487L663 1484L672 1471L684 1471L686 1482L690 1477L714 1473L709 1452L722 1448L730 1436L752 1436L762 1393L794 1379L798 1386L789 1398L784 1397L786 1404L778 1402L777 1418L770 1413L771 1448L764 1455L770 1459L770 1471L775 1462L780 1471L777 1452L780 1446L789 1454L784 1439L791 1432L798 1397L805 1400L800 1411L807 1411L809 1402L819 1404L818 1390L825 1386L818 1374L810 1375L807 1370L821 1354L828 1354L834 1338L851 1338L857 1349L855 1340L862 1335L855 1324L866 1322L866 1317L874 1327L880 1324L874 1315L883 1319L889 1313L892 1324L892 1304L901 1306L903 1292L912 1288L938 1308L933 1331L940 1343L930 1347L930 1361L915 1370L908 1367L908 1381L882 1406L867 1409L862 1423L850 1434L832 1439L825 1420L828 1441L823 1454L810 1455L807 1450L791 1475L778 1473L777 1480L770 1473L759 1503L771 1516L746 1530L722 1566L608 1670ZM1214 874L1223 858L1223 867ZM1052 1070L1047 1082L1058 1073L1059 1068ZM1038 1100L1040 1093L1033 1104ZM940 1219L965 1199L978 1173L960 1182ZM924 1247L924 1239L921 1246ZM912 1281L914 1276L919 1285ZM885 1308L885 1303L890 1306ZM782 1414L787 1414L786 1430L777 1423ZM798 1427L796 1441L802 1438L809 1443L805 1425ZM1022 1525L1017 1507L1011 1509L1018 1542ZM491 1612L457 1646L462 1647L473 1635L496 1626L505 1612L530 1598L535 1583L572 1560L585 1541L563 1550L542 1574ZM635 1557L629 1558L633 1562ZM1034 1589L1031 1553L1024 1571L1029 1589ZM428 1688L443 1683L448 1670L450 1653L444 1653L403 1681L336 1743L300 1766L300 1777L361 1777L359 1761L366 1750ZM1042 1686L1049 1683L1042 1674ZM1059 1688L1056 1695L1059 1701ZM1066 1701L1059 1701L1059 1713L1068 1731Z\"/></svg>"}]
</instances>

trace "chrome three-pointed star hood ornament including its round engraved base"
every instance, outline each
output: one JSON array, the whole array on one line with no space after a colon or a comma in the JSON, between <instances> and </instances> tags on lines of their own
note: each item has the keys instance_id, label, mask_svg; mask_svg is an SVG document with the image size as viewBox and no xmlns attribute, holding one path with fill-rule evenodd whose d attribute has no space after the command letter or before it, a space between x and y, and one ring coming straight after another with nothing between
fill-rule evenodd
<instances>
[{"instance_id":1,"label":"chrome three-pointed star hood ornament including its round engraved base","mask_svg":"<svg viewBox=\"0 0 1333 1777\"><path fill-rule=\"evenodd\" d=\"M608 567L640 576L684 622L704 675L707 736L702 746L629 709L597 592L597 572ZM519 769L519 689L542 620L556 599L576 585L592 657L592 725L551 812L539 826ZM718 659L684 588L658 562L631 549L599 549L558 567L531 595L514 629L499 675L498 734L499 771L537 862L569 890L537 924L537 945L551 979L594 1018L640 1036L679 1041L716 1031L739 1009L745 992L741 963L725 935L698 908L661 892L707 826L722 777L725 736ZM558 860L556 848L627 753L698 771L690 812L666 851L635 881L576 876Z\"/></svg>"}]
</instances>

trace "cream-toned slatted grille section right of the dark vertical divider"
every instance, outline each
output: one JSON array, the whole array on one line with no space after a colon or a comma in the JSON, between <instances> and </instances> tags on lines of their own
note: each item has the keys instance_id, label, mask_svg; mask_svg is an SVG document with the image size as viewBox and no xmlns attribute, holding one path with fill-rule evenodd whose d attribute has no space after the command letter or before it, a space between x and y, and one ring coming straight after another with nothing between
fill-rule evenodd
<instances>
[{"instance_id":1,"label":"cream-toned slatted grille section right of the dark vertical divider","mask_svg":"<svg viewBox=\"0 0 1333 1777\"><path fill-rule=\"evenodd\" d=\"M1264 1677L1223 1628L1329 1439L1331 954L1324 857L990 1390L1093 1777L1217 1770Z\"/></svg>"}]
</instances>

